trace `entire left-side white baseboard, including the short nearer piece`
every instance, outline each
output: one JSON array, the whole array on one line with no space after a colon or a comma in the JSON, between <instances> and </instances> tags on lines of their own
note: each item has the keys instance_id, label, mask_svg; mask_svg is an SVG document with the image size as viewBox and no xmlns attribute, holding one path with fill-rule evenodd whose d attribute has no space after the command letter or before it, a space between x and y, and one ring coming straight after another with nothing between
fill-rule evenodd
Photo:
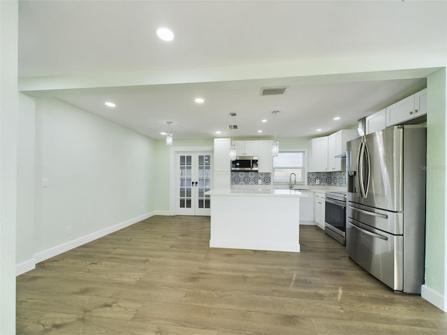
<instances>
[{"instance_id":1,"label":"entire left-side white baseboard, including the short nearer piece","mask_svg":"<svg viewBox=\"0 0 447 335\"><path fill-rule=\"evenodd\" d=\"M15 273L18 276L19 274L24 274L27 271L30 271L36 267L36 263L42 262L43 260L47 260L48 258L52 258L54 256L60 255L61 253L65 253L73 248L78 248L78 246L82 246L83 244L94 241L95 239L99 239L100 237L104 237L105 235L111 234L112 232L117 232L123 228L129 227L129 225L133 225L134 223L145 220L146 218L150 218L154 216L154 211L151 211L147 214L143 214L137 216L135 218L131 218L122 223L117 223L116 225L112 225L111 227L104 228L102 230L98 230L97 232L93 232L91 234L79 237L78 239L73 239L72 241L68 241L64 244L59 244L59 246L54 246L47 250L41 251L39 253L35 253L31 260L27 262L22 262L15 266ZM160 215L160 214L159 214ZM34 263L34 264L33 264Z\"/></svg>"}]
</instances>

